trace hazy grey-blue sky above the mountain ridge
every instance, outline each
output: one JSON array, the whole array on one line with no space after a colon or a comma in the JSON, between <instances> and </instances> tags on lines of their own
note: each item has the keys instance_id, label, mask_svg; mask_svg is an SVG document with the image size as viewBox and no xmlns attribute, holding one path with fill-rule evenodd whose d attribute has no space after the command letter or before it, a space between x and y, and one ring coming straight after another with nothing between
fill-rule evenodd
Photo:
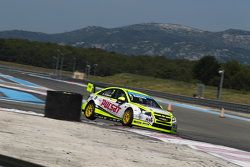
<instances>
[{"instance_id":1,"label":"hazy grey-blue sky above the mountain ridge","mask_svg":"<svg viewBox=\"0 0 250 167\"><path fill-rule=\"evenodd\" d=\"M60 33L150 22L250 31L250 0L0 0L0 31Z\"/></svg>"}]
</instances>

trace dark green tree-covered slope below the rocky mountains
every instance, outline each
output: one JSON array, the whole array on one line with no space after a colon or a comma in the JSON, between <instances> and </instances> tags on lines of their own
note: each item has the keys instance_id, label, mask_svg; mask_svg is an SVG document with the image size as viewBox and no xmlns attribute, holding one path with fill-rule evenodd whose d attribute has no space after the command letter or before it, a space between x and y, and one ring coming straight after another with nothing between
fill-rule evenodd
<instances>
[{"instance_id":1,"label":"dark green tree-covered slope below the rocky mountains","mask_svg":"<svg viewBox=\"0 0 250 167\"><path fill-rule=\"evenodd\" d=\"M62 46L21 39L0 39L0 60L66 71L82 71L99 76L133 73L218 86L223 69L224 87L250 90L250 66L237 61L219 63L213 56L198 61L164 56L127 56L97 48Z\"/></svg>"}]
</instances>

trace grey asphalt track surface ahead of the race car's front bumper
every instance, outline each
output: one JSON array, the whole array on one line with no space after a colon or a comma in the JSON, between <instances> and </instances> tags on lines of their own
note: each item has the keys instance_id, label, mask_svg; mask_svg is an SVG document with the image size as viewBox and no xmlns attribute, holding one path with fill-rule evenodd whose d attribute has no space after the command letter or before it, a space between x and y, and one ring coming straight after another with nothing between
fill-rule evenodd
<instances>
[{"instance_id":1,"label":"grey asphalt track surface ahead of the race car's front bumper","mask_svg":"<svg viewBox=\"0 0 250 167\"><path fill-rule=\"evenodd\" d=\"M250 122L173 107L183 138L250 151Z\"/></svg>"}]
</instances>

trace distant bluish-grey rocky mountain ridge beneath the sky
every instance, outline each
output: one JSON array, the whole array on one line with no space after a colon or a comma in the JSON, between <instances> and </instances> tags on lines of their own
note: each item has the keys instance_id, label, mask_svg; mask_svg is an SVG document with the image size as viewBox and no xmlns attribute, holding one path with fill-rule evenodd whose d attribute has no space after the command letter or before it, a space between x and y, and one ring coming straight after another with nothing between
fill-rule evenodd
<instances>
[{"instance_id":1,"label":"distant bluish-grey rocky mountain ridge beneath the sky","mask_svg":"<svg viewBox=\"0 0 250 167\"><path fill-rule=\"evenodd\" d=\"M126 55L166 56L198 60L213 55L225 62L250 64L250 31L203 31L177 24L145 23L119 28L90 26L75 31L45 34L2 31L0 38L53 42L83 48L101 48Z\"/></svg>"}]
</instances>

